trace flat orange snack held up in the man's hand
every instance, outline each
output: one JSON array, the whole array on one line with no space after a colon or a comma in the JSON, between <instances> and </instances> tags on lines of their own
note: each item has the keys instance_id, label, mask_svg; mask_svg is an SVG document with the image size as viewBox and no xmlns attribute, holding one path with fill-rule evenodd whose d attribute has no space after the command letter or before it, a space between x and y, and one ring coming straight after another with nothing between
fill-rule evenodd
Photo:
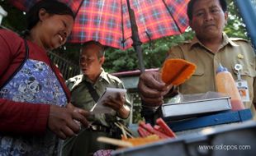
<instances>
[{"instance_id":1,"label":"flat orange snack held up in the man's hand","mask_svg":"<svg viewBox=\"0 0 256 156\"><path fill-rule=\"evenodd\" d=\"M197 66L183 59L168 59L164 62L162 80L166 85L181 85L196 71Z\"/></svg>"}]
</instances>

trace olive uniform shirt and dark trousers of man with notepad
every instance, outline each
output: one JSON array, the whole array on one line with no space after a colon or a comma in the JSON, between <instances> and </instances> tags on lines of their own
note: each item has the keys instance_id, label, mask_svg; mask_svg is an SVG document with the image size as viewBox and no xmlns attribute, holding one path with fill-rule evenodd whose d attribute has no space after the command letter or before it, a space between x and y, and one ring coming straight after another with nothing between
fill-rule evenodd
<instances>
[{"instance_id":1,"label":"olive uniform shirt and dark trousers of man with notepad","mask_svg":"<svg viewBox=\"0 0 256 156\"><path fill-rule=\"evenodd\" d=\"M90 81L87 76L83 75L70 78L67 80L66 84L71 91L71 103L78 108L83 108L89 111L94 106L95 101L92 99L87 85L84 83L86 80L92 84L92 81ZM97 91L97 94L101 96L107 87L123 89L124 85L116 76L111 76L102 69L101 75L98 77L95 84L92 85L92 87ZM125 104L131 108L127 94ZM113 110L109 114L96 114L93 117L89 117L88 120L93 122L93 124L107 126L111 129L111 123L115 122L116 120L120 120L120 118L117 117L116 112ZM127 123L128 120L129 117L125 120L125 122ZM102 131L82 130L79 132L78 136L73 136L64 140L61 147L61 155L92 155L99 149L113 149L113 147L109 144L98 142L98 136L112 137L111 134Z\"/></svg>"}]
</instances>

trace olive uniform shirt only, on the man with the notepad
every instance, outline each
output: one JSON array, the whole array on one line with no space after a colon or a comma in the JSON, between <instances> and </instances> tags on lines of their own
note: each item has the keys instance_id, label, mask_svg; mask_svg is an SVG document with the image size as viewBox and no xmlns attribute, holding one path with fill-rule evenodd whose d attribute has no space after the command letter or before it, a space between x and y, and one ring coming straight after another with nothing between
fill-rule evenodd
<instances>
[{"instance_id":1,"label":"olive uniform shirt only, on the man with the notepad","mask_svg":"<svg viewBox=\"0 0 256 156\"><path fill-rule=\"evenodd\" d=\"M78 75L74 76L67 80L67 85L71 91L71 103L78 108L83 108L84 110L90 111L94 106L95 101L92 99L91 94L88 91L88 88L84 81L88 81L92 84L92 81L88 79L87 76ZM98 77L95 84L92 84L92 87L97 91L97 94L101 96L107 87L110 88L124 88L123 83L116 76L111 76L102 69L100 76ZM126 94L126 106L131 108L130 100ZM91 118L91 122L95 124L100 124L103 126L110 126L109 123L116 121L116 112L113 110L109 114L96 114Z\"/></svg>"}]
</instances>

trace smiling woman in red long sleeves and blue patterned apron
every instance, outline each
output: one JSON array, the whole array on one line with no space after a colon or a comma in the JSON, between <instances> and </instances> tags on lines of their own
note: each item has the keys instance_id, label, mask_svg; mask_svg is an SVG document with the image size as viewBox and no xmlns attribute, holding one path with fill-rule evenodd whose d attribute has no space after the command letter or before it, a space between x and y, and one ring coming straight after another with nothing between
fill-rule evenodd
<instances>
[{"instance_id":1,"label":"smiling woman in red long sleeves and blue patterned apron","mask_svg":"<svg viewBox=\"0 0 256 156\"><path fill-rule=\"evenodd\" d=\"M0 154L57 155L59 138L75 135L88 112L69 103L69 89L48 50L66 42L73 11L62 2L37 2L28 33L0 30Z\"/></svg>"}]
</instances>

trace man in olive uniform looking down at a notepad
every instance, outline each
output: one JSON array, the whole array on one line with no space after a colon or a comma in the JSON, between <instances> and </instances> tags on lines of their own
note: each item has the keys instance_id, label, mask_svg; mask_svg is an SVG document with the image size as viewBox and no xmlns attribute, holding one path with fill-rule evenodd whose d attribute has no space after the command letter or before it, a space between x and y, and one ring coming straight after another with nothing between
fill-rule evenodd
<instances>
[{"instance_id":1,"label":"man in olive uniform looking down at a notepad","mask_svg":"<svg viewBox=\"0 0 256 156\"><path fill-rule=\"evenodd\" d=\"M111 76L102 68L105 61L104 48L102 44L89 41L83 45L80 54L80 69L83 74L74 76L67 80L71 91L71 103L78 108L87 111L91 110L97 99L107 87L123 89L124 85L119 78ZM96 97L97 96L97 97ZM92 126L83 129L77 136L64 140L62 155L88 156L99 149L112 149L111 145L97 141L98 136L113 137L116 131L114 122L122 120L128 122L130 116L130 100L128 97L121 97L116 94L116 99L108 98L104 104L112 111L109 113L94 114L89 117Z\"/></svg>"}]
</instances>

